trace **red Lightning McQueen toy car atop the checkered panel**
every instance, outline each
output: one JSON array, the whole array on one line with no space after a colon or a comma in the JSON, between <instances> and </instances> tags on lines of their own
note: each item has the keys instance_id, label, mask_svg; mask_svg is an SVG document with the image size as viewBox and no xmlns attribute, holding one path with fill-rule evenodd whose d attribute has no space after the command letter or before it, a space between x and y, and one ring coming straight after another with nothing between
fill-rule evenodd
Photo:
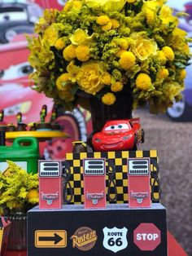
<instances>
[{"instance_id":1,"label":"red Lightning McQueen toy car atop the checkered panel","mask_svg":"<svg viewBox=\"0 0 192 256\"><path fill-rule=\"evenodd\" d=\"M137 150L144 142L144 131L139 118L107 121L103 130L92 138L94 151Z\"/></svg>"}]
</instances>

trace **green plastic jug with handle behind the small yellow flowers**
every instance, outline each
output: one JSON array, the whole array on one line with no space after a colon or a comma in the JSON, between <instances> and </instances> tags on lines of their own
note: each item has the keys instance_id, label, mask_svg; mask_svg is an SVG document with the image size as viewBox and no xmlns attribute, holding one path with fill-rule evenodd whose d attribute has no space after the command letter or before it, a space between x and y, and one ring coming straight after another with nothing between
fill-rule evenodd
<instances>
[{"instance_id":1,"label":"green plastic jug with handle behind the small yellow flowers","mask_svg":"<svg viewBox=\"0 0 192 256\"><path fill-rule=\"evenodd\" d=\"M39 146L36 138L20 137L12 146L0 146L0 171L7 169L7 160L14 161L28 173L37 173Z\"/></svg>"}]
</instances>

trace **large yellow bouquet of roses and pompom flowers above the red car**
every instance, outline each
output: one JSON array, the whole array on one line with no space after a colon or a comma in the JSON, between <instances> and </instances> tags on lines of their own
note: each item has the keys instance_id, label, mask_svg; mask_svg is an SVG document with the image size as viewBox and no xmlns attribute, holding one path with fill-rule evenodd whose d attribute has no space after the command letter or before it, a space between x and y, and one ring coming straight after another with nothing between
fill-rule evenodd
<instances>
[{"instance_id":1,"label":"large yellow bouquet of roses and pompom flowers above the red car","mask_svg":"<svg viewBox=\"0 0 192 256\"><path fill-rule=\"evenodd\" d=\"M129 89L133 106L162 112L180 99L189 38L164 0L69 0L28 38L35 89L73 108L79 90L103 104ZM181 15L178 14L178 15Z\"/></svg>"}]
</instances>

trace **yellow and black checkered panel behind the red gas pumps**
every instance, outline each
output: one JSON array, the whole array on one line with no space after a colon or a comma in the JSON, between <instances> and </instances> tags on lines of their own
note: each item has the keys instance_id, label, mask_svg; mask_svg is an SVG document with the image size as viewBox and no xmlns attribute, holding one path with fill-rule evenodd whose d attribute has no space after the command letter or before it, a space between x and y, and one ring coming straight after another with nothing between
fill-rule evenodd
<instances>
[{"instance_id":1,"label":"yellow and black checkered panel behind the red gas pumps","mask_svg":"<svg viewBox=\"0 0 192 256\"><path fill-rule=\"evenodd\" d=\"M83 182L83 159L101 158L111 160L116 168L115 183L117 189L116 201L109 203L126 204L128 196L128 158L149 157L151 159L151 200L159 202L160 188L158 177L158 157L155 150L150 151L116 151L116 152L81 152L68 153L66 161L71 169L70 184L73 190L72 204L82 204L84 202L84 182ZM106 166L108 173L108 165ZM106 189L108 188L108 175L106 175ZM107 191L106 191L107 192ZM111 198L116 197L114 187L111 187ZM108 198L107 198L108 201Z\"/></svg>"}]
</instances>

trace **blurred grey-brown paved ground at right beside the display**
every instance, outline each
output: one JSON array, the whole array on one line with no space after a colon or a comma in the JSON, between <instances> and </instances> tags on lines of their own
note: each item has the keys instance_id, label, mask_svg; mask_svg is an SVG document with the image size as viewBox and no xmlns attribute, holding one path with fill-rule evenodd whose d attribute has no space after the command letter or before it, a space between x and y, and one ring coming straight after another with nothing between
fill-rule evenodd
<instances>
[{"instance_id":1,"label":"blurred grey-brown paved ground at right beside the display","mask_svg":"<svg viewBox=\"0 0 192 256\"><path fill-rule=\"evenodd\" d=\"M157 149L161 203L167 208L168 230L192 256L192 122L172 122L166 115L137 110L146 141L142 149Z\"/></svg>"}]
</instances>

